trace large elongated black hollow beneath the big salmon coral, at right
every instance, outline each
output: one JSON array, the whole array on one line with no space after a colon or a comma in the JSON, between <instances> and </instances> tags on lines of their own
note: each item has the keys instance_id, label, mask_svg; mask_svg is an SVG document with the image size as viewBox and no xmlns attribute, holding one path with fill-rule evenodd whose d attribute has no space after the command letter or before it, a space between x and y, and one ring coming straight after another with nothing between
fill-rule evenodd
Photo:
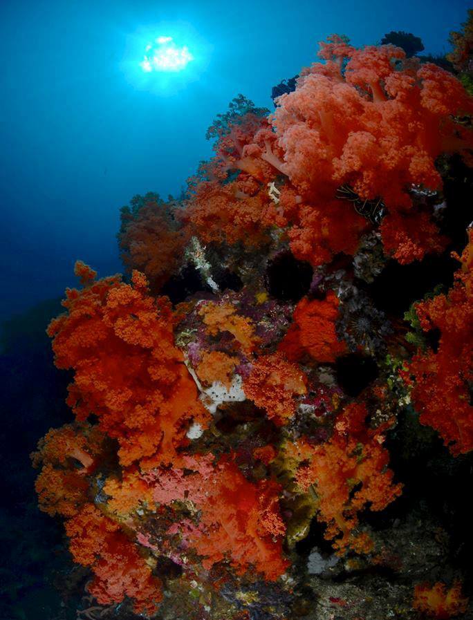
<instances>
[{"instance_id":1,"label":"large elongated black hollow beneath the big salmon coral, at right","mask_svg":"<svg viewBox=\"0 0 473 620\"><path fill-rule=\"evenodd\" d=\"M402 319L414 301L438 285L449 288L458 261L452 256L427 256L423 261L400 265L389 261L375 281L368 286L375 306L391 316Z\"/></svg>"}]
</instances>

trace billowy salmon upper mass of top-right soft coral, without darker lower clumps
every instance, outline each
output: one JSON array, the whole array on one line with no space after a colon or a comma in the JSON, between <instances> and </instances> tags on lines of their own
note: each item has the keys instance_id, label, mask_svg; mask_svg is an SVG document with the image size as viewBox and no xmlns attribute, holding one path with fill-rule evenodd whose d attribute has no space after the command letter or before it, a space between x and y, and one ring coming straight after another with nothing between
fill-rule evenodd
<instances>
[{"instance_id":1,"label":"billowy salmon upper mass of top-right soft coral, without darker lower clumps","mask_svg":"<svg viewBox=\"0 0 473 620\"><path fill-rule=\"evenodd\" d=\"M432 64L414 75L399 71L393 60L404 56L393 46L352 48L344 81L317 67L279 97L273 125L286 173L302 193L333 196L349 183L361 198L409 206L406 187L428 180L435 189L435 158L471 144L450 118L472 109L463 86Z\"/></svg>"}]
</instances>

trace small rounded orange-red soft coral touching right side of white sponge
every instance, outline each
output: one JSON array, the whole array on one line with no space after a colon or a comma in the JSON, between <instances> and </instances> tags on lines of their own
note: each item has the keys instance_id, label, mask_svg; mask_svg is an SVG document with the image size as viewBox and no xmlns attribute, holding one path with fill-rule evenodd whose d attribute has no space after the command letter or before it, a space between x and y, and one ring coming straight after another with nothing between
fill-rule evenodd
<instances>
[{"instance_id":1,"label":"small rounded orange-red soft coral touching right side of white sponge","mask_svg":"<svg viewBox=\"0 0 473 620\"><path fill-rule=\"evenodd\" d=\"M295 397L306 393L306 377L281 353L263 355L254 361L243 388L245 395L280 425L294 415Z\"/></svg>"}]
</instances>

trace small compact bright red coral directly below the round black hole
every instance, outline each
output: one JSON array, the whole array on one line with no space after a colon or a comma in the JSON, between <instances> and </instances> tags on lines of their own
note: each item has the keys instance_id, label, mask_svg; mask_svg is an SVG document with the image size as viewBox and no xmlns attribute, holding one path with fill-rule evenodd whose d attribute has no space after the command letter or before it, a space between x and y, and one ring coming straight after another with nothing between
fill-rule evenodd
<instances>
[{"instance_id":1,"label":"small compact bright red coral directly below the round black hole","mask_svg":"<svg viewBox=\"0 0 473 620\"><path fill-rule=\"evenodd\" d=\"M335 361L346 350L335 331L338 316L338 298L329 291L326 299L309 301L306 297L297 304L293 320L279 350L291 360L300 359L305 353L316 361Z\"/></svg>"}]
</instances>

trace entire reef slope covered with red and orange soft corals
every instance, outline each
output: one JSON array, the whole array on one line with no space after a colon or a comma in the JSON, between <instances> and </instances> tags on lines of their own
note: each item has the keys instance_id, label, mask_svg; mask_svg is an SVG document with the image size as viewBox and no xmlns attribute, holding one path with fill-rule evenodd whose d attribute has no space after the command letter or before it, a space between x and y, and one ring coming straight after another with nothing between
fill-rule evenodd
<instances>
[{"instance_id":1,"label":"entire reef slope covered with red and orange soft corals","mask_svg":"<svg viewBox=\"0 0 473 620\"><path fill-rule=\"evenodd\" d=\"M126 275L78 261L50 323L75 422L33 462L80 618L470 609L409 451L473 450L473 99L391 44L320 47L274 113L236 97L179 200L122 209Z\"/></svg>"}]
</instances>

